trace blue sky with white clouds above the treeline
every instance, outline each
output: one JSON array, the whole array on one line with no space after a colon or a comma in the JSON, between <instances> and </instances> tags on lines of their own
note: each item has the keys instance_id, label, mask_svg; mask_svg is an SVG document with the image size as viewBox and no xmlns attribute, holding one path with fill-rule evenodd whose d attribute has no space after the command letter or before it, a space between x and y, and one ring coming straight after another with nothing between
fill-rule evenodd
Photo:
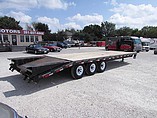
<instances>
[{"instance_id":1,"label":"blue sky with white clouds above the treeline","mask_svg":"<svg viewBox=\"0 0 157 118\"><path fill-rule=\"evenodd\" d=\"M108 21L116 28L157 26L156 0L0 0L0 17L47 24L52 33Z\"/></svg>"}]
</instances>

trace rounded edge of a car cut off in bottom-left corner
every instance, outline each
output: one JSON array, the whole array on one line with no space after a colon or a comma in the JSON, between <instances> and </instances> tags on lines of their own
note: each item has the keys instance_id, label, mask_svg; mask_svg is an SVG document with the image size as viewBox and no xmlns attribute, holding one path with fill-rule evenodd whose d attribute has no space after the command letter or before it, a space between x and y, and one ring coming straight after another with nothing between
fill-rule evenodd
<instances>
[{"instance_id":1,"label":"rounded edge of a car cut off in bottom-left corner","mask_svg":"<svg viewBox=\"0 0 157 118\"><path fill-rule=\"evenodd\" d=\"M22 118L17 112L6 104L0 103L0 118ZM25 117L26 118L26 117Z\"/></svg>"}]
</instances>

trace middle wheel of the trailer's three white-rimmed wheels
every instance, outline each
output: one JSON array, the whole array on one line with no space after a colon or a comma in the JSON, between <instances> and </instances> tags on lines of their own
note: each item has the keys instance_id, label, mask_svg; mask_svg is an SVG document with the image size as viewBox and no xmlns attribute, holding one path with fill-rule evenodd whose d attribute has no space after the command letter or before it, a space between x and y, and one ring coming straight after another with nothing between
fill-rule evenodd
<instances>
[{"instance_id":1,"label":"middle wheel of the trailer's three white-rimmed wheels","mask_svg":"<svg viewBox=\"0 0 157 118\"><path fill-rule=\"evenodd\" d=\"M86 74L87 75L94 75L96 73L97 65L96 63L88 63L86 65Z\"/></svg>"}]
</instances>

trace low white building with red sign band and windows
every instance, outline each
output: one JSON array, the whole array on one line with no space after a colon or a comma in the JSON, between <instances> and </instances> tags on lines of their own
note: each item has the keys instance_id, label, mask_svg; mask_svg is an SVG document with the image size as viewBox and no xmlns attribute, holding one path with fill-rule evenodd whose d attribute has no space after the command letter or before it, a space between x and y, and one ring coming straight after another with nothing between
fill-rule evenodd
<instances>
[{"instance_id":1,"label":"low white building with red sign band and windows","mask_svg":"<svg viewBox=\"0 0 157 118\"><path fill-rule=\"evenodd\" d=\"M34 42L42 41L42 35L44 35L44 32L0 29L0 42L9 41L12 45L28 46Z\"/></svg>"}]
</instances>

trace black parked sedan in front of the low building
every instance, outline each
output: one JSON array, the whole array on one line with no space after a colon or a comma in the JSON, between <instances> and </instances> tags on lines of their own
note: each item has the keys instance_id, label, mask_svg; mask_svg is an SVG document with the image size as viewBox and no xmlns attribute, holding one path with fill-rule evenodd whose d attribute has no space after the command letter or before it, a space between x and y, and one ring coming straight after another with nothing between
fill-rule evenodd
<instances>
[{"instance_id":1,"label":"black parked sedan in front of the low building","mask_svg":"<svg viewBox=\"0 0 157 118\"><path fill-rule=\"evenodd\" d=\"M38 54L38 53L47 54L47 53L49 53L49 49L44 48L39 44L30 44L29 46L26 47L26 52L27 53L29 53L29 52L30 53L35 53L35 54Z\"/></svg>"}]
</instances>

